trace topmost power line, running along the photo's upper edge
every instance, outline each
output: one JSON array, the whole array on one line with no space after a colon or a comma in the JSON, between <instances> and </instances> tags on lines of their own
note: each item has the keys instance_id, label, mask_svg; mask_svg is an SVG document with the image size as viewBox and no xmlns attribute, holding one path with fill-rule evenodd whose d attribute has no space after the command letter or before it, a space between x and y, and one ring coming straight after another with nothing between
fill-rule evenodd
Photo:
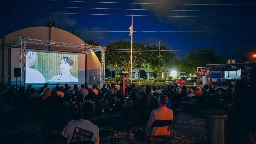
<instances>
[{"instance_id":1,"label":"topmost power line, running along the photo's upper edge","mask_svg":"<svg viewBox=\"0 0 256 144\"><path fill-rule=\"evenodd\" d=\"M256 5L256 4L177 4L177 3L128 3L128 2L94 2L94 1L69 1L69 0L46 0L46 1L57 1L57 2L82 2L82 3L111 3L111 4L150 4L150 5L236 5L236 6L245 6L245 5Z\"/></svg>"}]
</instances>

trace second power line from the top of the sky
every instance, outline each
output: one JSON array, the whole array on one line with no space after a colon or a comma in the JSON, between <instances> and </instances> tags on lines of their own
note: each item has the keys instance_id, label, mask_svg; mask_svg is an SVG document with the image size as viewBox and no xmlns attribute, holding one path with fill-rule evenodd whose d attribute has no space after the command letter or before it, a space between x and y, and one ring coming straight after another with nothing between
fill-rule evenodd
<instances>
[{"instance_id":1,"label":"second power line from the top of the sky","mask_svg":"<svg viewBox=\"0 0 256 144\"><path fill-rule=\"evenodd\" d=\"M107 10L144 10L144 11L191 11L191 12L256 12L255 10L175 10L175 9L122 9L122 8L91 8L91 7L60 7L55 8L77 8L77 9L107 9Z\"/></svg>"}]
</instances>

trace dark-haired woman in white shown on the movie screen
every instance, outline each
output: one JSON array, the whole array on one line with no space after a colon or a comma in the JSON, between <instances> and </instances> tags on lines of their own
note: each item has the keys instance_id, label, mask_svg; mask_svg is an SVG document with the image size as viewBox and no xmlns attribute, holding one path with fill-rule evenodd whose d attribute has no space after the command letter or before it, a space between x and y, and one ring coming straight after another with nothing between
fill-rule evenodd
<instances>
[{"instance_id":1,"label":"dark-haired woman in white shown on the movie screen","mask_svg":"<svg viewBox=\"0 0 256 144\"><path fill-rule=\"evenodd\" d=\"M74 64L74 61L69 57L63 57L60 60L60 75L53 76L51 82L78 82L78 79L69 72Z\"/></svg>"}]
</instances>

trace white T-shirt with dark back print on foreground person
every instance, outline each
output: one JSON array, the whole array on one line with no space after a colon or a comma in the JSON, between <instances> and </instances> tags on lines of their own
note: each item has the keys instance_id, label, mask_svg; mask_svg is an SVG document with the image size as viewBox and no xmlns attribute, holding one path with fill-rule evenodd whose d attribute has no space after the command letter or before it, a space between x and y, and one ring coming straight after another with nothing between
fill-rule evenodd
<instances>
[{"instance_id":1,"label":"white T-shirt with dark back print on foreground person","mask_svg":"<svg viewBox=\"0 0 256 144\"><path fill-rule=\"evenodd\" d=\"M70 121L61 134L68 139L68 143L70 143L71 140L75 140L77 136L79 136L80 139L93 141L95 144L100 143L99 128L92 122L84 119Z\"/></svg>"}]
</instances>

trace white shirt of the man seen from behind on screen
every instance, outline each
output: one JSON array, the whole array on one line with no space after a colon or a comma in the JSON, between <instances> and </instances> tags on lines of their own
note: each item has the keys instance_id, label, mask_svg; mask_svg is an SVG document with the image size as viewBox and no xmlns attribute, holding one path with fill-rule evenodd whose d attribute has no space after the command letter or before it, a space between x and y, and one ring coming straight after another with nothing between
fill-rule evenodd
<instances>
[{"instance_id":1,"label":"white shirt of the man seen from behind on screen","mask_svg":"<svg viewBox=\"0 0 256 144\"><path fill-rule=\"evenodd\" d=\"M45 78L38 70L26 65L26 83L45 83Z\"/></svg>"}]
</instances>

